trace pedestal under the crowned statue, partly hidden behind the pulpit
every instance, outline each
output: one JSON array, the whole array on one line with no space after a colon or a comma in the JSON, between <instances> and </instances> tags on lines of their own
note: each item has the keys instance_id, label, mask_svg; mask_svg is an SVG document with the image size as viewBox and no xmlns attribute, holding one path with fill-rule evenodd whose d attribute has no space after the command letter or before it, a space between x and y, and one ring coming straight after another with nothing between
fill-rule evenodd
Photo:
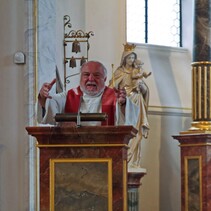
<instances>
[{"instance_id":1,"label":"pedestal under the crowned statue, partly hidden behind the pulpit","mask_svg":"<svg viewBox=\"0 0 211 211\"><path fill-rule=\"evenodd\" d=\"M146 169L128 169L128 211L140 211L139 187Z\"/></svg>"}]
</instances>

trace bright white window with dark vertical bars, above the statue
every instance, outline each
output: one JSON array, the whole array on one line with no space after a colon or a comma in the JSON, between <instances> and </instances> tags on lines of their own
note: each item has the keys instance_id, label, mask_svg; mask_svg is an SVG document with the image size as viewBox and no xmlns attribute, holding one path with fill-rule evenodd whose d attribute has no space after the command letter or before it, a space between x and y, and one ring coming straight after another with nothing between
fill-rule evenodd
<instances>
[{"instance_id":1,"label":"bright white window with dark vertical bars, above the statue","mask_svg":"<svg viewBox=\"0 0 211 211\"><path fill-rule=\"evenodd\" d=\"M181 47L181 0L127 0L127 42Z\"/></svg>"}]
</instances>

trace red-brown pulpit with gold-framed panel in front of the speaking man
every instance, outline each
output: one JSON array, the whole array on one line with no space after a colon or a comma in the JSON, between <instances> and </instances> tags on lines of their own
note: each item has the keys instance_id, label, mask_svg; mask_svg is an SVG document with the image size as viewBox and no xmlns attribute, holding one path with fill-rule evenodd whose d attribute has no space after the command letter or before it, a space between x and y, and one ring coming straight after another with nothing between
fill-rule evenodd
<instances>
[{"instance_id":1,"label":"red-brown pulpit with gold-framed panel in front of the speaking man","mask_svg":"<svg viewBox=\"0 0 211 211\"><path fill-rule=\"evenodd\" d=\"M26 127L39 149L41 211L127 211L132 126Z\"/></svg>"}]
</instances>

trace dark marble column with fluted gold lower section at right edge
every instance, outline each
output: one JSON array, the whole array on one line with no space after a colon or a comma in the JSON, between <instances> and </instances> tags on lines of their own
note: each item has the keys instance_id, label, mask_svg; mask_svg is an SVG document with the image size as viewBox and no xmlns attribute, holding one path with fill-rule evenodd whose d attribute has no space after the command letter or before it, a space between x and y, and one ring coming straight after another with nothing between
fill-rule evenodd
<instances>
[{"instance_id":1,"label":"dark marble column with fluted gold lower section at right edge","mask_svg":"<svg viewBox=\"0 0 211 211\"><path fill-rule=\"evenodd\" d=\"M195 0L191 132L211 131L211 0Z\"/></svg>"}]
</instances>

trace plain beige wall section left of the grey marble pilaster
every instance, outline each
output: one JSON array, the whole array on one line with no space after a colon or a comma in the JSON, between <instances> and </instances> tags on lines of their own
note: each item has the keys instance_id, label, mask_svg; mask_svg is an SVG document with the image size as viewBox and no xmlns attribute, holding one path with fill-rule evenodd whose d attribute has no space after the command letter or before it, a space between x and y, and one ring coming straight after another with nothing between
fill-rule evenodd
<instances>
[{"instance_id":1,"label":"plain beige wall section left of the grey marble pilaster","mask_svg":"<svg viewBox=\"0 0 211 211\"><path fill-rule=\"evenodd\" d=\"M24 1L3 0L0 7L0 210L28 210L28 137L26 64L14 54L25 53ZM27 86L27 88L26 88Z\"/></svg>"}]
</instances>

